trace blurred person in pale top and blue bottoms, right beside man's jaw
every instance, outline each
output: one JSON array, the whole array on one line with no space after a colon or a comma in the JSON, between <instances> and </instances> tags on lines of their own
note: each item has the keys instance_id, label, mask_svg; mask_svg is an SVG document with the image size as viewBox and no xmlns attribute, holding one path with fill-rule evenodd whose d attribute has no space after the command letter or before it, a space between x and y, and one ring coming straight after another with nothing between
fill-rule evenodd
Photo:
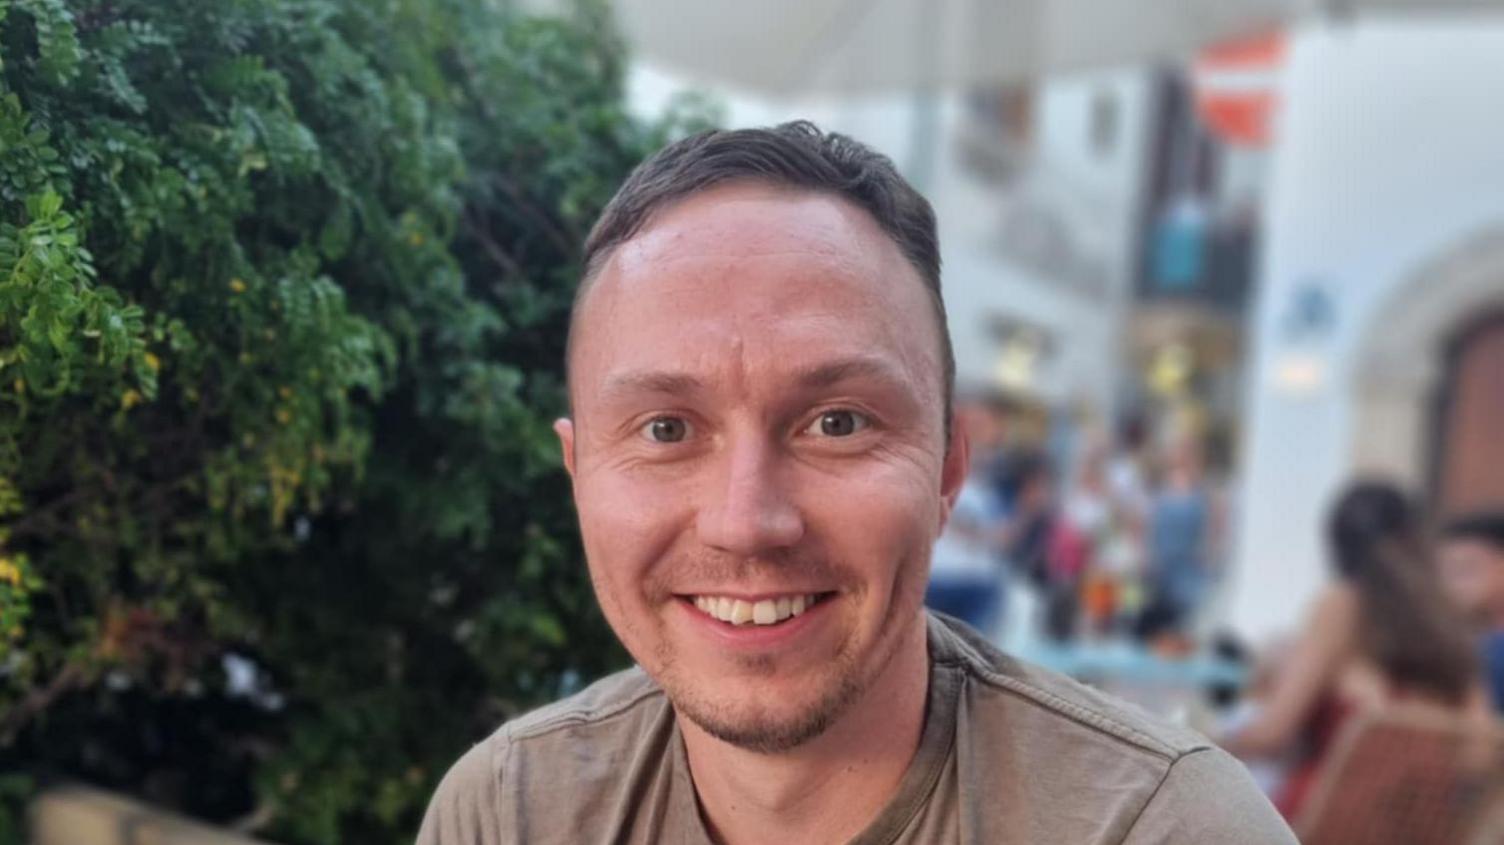
<instances>
[{"instance_id":1,"label":"blurred person in pale top and blue bottoms, right beside man's jaw","mask_svg":"<svg viewBox=\"0 0 1504 845\"><path fill-rule=\"evenodd\" d=\"M997 547L1003 511L984 471L999 444L987 406L963 401L957 407L957 418L973 447L972 468L961 483L951 519L935 540L925 606L993 636L1005 600Z\"/></svg>"}]
</instances>

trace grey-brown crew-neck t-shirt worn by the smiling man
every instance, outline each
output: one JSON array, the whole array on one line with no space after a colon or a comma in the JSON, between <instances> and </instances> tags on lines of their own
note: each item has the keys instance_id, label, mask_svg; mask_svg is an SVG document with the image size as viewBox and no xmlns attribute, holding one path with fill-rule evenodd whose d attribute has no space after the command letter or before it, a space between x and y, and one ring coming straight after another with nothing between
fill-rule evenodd
<instances>
[{"instance_id":1,"label":"grey-brown crew-neck t-shirt worn by the smiling man","mask_svg":"<svg viewBox=\"0 0 1504 845\"><path fill-rule=\"evenodd\" d=\"M420 845L710 842L674 710L641 669L501 726L445 776ZM929 618L908 771L851 842L1293 843L1244 767Z\"/></svg>"}]
</instances>

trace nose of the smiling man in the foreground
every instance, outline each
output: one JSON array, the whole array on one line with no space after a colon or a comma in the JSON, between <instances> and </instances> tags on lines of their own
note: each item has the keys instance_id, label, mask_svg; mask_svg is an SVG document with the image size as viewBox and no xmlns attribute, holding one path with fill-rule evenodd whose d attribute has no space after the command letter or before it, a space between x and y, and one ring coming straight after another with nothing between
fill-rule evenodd
<instances>
[{"instance_id":1,"label":"nose of the smiling man in the foreground","mask_svg":"<svg viewBox=\"0 0 1504 845\"><path fill-rule=\"evenodd\" d=\"M766 438L734 438L713 475L695 520L705 546L755 558L794 546L805 535L778 447Z\"/></svg>"}]
</instances>

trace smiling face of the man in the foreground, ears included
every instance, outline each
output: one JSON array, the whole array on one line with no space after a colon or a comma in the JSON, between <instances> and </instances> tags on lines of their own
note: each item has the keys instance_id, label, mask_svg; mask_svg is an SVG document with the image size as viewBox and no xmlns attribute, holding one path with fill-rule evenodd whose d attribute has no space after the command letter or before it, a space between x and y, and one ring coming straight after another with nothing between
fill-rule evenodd
<instances>
[{"instance_id":1,"label":"smiling face of the man in the foreground, ears included","mask_svg":"<svg viewBox=\"0 0 1504 845\"><path fill-rule=\"evenodd\" d=\"M623 244L581 308L555 429L608 621L711 735L818 735L923 636L964 475L928 293L859 207L729 185Z\"/></svg>"}]
</instances>

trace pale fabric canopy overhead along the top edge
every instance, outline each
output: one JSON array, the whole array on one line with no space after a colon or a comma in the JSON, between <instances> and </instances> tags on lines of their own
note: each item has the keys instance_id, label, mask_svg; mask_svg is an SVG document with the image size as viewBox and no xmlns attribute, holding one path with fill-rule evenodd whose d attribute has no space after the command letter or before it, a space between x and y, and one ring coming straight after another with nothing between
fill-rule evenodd
<instances>
[{"instance_id":1,"label":"pale fabric canopy overhead along the top edge","mask_svg":"<svg viewBox=\"0 0 1504 845\"><path fill-rule=\"evenodd\" d=\"M1182 57L1314 15L1498 0L615 0L644 59L763 93L1027 80Z\"/></svg>"}]
</instances>

